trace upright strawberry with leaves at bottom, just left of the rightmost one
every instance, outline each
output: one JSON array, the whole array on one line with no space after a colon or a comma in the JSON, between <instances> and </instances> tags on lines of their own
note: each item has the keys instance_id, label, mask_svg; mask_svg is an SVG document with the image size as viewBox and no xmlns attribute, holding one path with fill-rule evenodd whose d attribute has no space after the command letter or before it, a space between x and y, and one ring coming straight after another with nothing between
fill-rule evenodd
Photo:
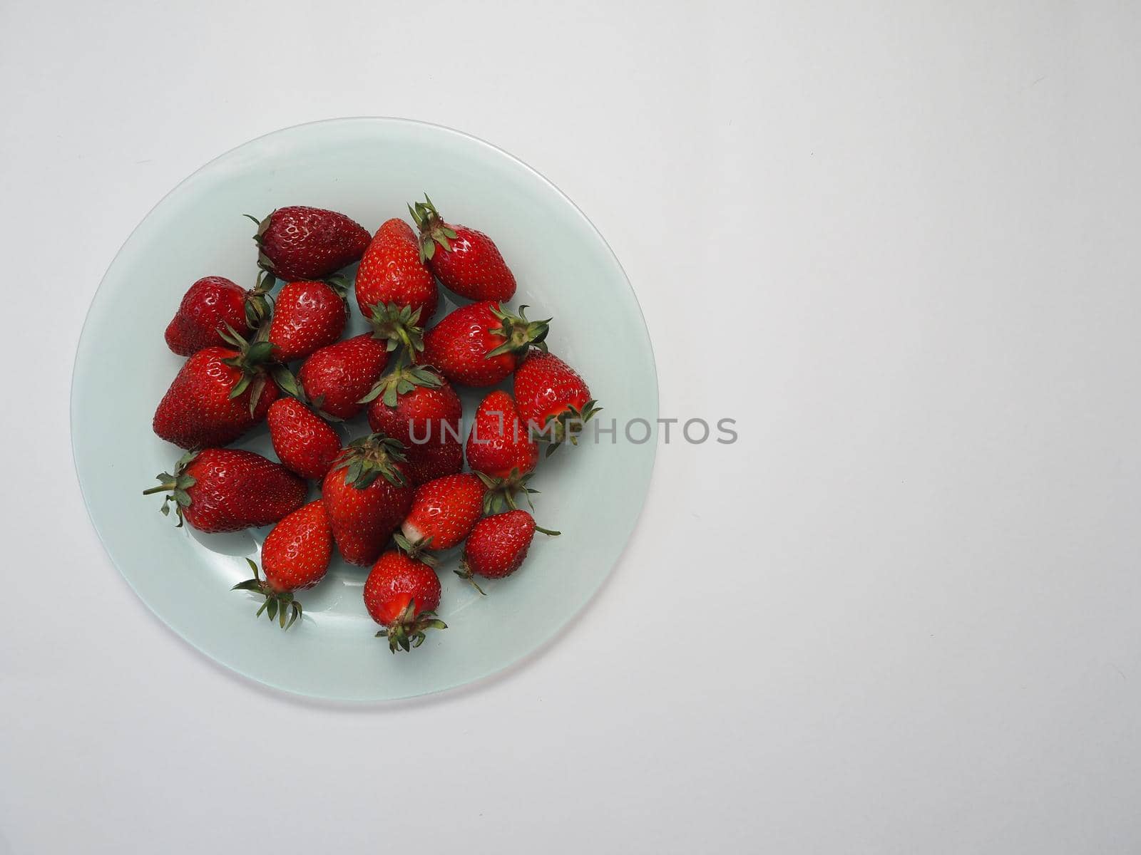
<instances>
[{"instance_id":1,"label":"upright strawberry with leaves at bottom, just left of the rightmost one","mask_svg":"<svg viewBox=\"0 0 1141 855\"><path fill-rule=\"evenodd\" d=\"M487 510L515 507L515 494L527 487L539 463L539 443L519 421L507 392L495 390L479 402L468 433L468 465L488 488Z\"/></svg>"}]
</instances>

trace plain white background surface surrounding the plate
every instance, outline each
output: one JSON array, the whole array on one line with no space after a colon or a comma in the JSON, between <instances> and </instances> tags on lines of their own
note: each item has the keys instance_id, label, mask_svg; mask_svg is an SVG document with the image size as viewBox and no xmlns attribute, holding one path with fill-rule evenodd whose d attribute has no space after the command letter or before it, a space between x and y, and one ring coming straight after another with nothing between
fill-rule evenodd
<instances>
[{"instance_id":1,"label":"plain white background surface surrounding the plate","mask_svg":"<svg viewBox=\"0 0 1141 855\"><path fill-rule=\"evenodd\" d=\"M1109 2L0 2L0 853L1136 852L1139 42ZM135 597L67 401L168 189L370 114L561 187L663 415L741 441L659 449L547 650L341 708Z\"/></svg>"}]
</instances>

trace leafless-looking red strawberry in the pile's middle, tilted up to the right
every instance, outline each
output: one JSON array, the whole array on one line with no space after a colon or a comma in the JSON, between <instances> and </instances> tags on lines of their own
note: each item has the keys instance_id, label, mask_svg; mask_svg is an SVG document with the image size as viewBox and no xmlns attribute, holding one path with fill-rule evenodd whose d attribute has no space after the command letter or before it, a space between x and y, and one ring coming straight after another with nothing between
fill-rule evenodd
<instances>
[{"instance_id":1,"label":"leafless-looking red strawberry in the pile's middle, tilted up to the right","mask_svg":"<svg viewBox=\"0 0 1141 855\"><path fill-rule=\"evenodd\" d=\"M387 364L388 347L365 333L318 350L305 360L298 380L314 407L334 418L351 418L364 409L361 399Z\"/></svg>"}]
</instances>

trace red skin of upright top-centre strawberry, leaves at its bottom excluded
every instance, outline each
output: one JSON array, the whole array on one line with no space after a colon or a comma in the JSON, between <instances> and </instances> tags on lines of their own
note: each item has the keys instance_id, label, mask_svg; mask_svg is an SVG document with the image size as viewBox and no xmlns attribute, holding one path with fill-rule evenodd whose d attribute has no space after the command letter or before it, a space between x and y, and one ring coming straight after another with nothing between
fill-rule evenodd
<instances>
[{"instance_id":1,"label":"red skin of upright top-centre strawberry, leaves at its bottom excluded","mask_svg":"<svg viewBox=\"0 0 1141 855\"><path fill-rule=\"evenodd\" d=\"M407 306L420 310L420 326L436 314L439 290L431 271L420 260L420 244L404 220L386 221L361 259L356 275L357 307L364 317L372 307Z\"/></svg>"}]
</instances>

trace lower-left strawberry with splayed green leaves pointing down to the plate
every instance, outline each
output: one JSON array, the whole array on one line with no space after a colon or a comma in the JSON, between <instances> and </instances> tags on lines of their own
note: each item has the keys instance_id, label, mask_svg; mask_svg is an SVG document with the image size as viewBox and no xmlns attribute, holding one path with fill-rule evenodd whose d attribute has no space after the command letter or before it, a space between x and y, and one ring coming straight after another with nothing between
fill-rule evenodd
<instances>
[{"instance_id":1,"label":"lower-left strawberry with splayed green leaves pointing down to the plate","mask_svg":"<svg viewBox=\"0 0 1141 855\"><path fill-rule=\"evenodd\" d=\"M277 523L261 544L261 567L266 578L258 576L258 565L246 559L253 578L240 581L232 591L253 591L265 597L258 614L267 612L289 629L301 617L301 603L293 592L311 588L325 578L333 557L333 532L321 499L298 508ZM285 622L285 611L293 613Z\"/></svg>"}]
</instances>

